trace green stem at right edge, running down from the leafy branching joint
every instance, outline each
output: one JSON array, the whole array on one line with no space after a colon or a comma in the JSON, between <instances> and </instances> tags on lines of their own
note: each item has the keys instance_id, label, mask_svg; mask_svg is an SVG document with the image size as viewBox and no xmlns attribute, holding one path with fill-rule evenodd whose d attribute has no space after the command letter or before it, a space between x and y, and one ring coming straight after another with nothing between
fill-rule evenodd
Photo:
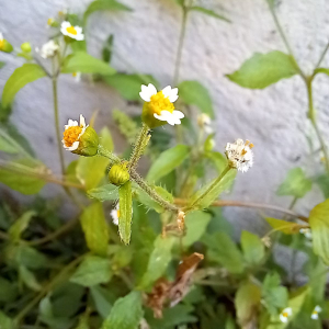
<instances>
[{"instance_id":1,"label":"green stem at right edge, running down from the leafy branching joint","mask_svg":"<svg viewBox=\"0 0 329 329\"><path fill-rule=\"evenodd\" d=\"M314 102L313 102L313 87L311 87L313 79L314 79L314 76L310 76L305 79L305 84L306 84L306 89L307 89L307 99L308 99L308 118L310 120L311 125L317 134L319 144L320 144L320 148L321 148L321 151L322 151L324 158L325 158L325 167L326 167L327 172L329 173L328 149L327 149L326 143L324 140L322 134L317 124L316 110L314 107Z\"/></svg>"}]
</instances>

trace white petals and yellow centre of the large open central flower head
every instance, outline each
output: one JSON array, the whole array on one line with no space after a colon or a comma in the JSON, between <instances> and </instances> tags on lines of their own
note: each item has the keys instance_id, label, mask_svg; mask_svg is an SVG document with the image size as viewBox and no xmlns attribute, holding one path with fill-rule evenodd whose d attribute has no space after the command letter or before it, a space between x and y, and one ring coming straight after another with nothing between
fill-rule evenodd
<instances>
[{"instance_id":1,"label":"white petals and yellow centre of the large open central flower head","mask_svg":"<svg viewBox=\"0 0 329 329\"><path fill-rule=\"evenodd\" d=\"M154 116L160 121L167 121L170 125L180 125L184 114L174 110L173 102L178 100L178 88L171 89L167 86L161 91L157 91L151 83L141 84L140 98L148 103Z\"/></svg>"}]
</instances>

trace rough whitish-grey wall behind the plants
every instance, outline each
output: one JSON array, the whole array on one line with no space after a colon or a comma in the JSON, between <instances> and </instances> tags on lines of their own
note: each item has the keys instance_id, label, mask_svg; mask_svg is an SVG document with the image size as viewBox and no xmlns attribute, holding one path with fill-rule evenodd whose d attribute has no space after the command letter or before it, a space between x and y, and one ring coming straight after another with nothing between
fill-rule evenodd
<instances>
[{"instance_id":1,"label":"rough whitish-grey wall behind the plants","mask_svg":"<svg viewBox=\"0 0 329 329\"><path fill-rule=\"evenodd\" d=\"M196 1L196 0L195 0ZM70 8L82 13L87 0L0 0L0 31L14 45L30 41L34 46L46 42L46 21L58 10ZM152 73L162 86L171 82L181 11L171 0L122 0L134 9L132 13L94 13L88 23L89 52L100 56L110 33L115 35L113 66L123 71ZM294 77L265 90L251 91L234 84L225 73L236 70L253 53L285 50L264 0L204 0L204 7L223 12L232 24L192 13L183 50L180 80L196 79L209 90L216 110L216 144L223 150L226 141L248 138L256 145L254 167L238 174L232 195L227 198L264 202L286 207L290 197L274 195L288 169L303 166L309 173L315 166L308 156L305 133L313 134L306 120L306 92L302 80ZM318 60L329 35L329 1L286 0L277 13L296 57L310 71ZM1 54L7 66L0 71L0 92L12 71L22 60ZM325 64L329 65L329 56ZM324 65L325 65L324 64ZM328 80L318 77L315 104L321 129L329 138ZM43 79L29 84L18 94L12 122L27 136L38 157L59 172L53 126L50 81ZM115 107L137 113L138 107L126 104L109 87L76 83L70 76L59 82L60 124L68 117L84 113L87 118L100 111L99 123L110 126L115 139L122 137L111 121ZM67 160L75 156L66 154ZM47 186L43 193L54 196L60 190ZM316 191L297 204L300 212L315 205ZM250 209L226 209L226 215L239 228L261 229L262 219ZM238 232L238 230L237 230Z\"/></svg>"}]
</instances>

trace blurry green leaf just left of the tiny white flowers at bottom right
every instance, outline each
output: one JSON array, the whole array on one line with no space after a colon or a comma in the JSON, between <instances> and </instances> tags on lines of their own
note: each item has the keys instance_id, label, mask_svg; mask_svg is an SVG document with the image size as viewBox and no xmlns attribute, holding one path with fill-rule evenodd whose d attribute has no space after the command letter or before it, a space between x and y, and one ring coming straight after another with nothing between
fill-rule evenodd
<instances>
[{"instance_id":1,"label":"blurry green leaf just left of the tiny white flowers at bottom right","mask_svg":"<svg viewBox=\"0 0 329 329\"><path fill-rule=\"evenodd\" d=\"M281 308L286 307L288 292L285 286L281 286L281 280L277 273L266 274L262 286L262 298L271 315L277 315Z\"/></svg>"}]
</instances>

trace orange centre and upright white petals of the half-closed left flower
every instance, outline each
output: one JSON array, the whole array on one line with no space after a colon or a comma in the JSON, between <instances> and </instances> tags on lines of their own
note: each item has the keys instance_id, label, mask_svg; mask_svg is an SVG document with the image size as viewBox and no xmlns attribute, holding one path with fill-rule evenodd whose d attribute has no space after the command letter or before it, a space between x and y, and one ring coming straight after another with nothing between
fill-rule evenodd
<instances>
[{"instance_id":1,"label":"orange centre and upright white petals of the half-closed left flower","mask_svg":"<svg viewBox=\"0 0 329 329\"><path fill-rule=\"evenodd\" d=\"M84 134L88 125L82 114L80 114L80 125L77 121L69 120L68 124L65 125L65 131L63 133L63 146L67 150L76 150L79 147L80 137Z\"/></svg>"}]
</instances>

